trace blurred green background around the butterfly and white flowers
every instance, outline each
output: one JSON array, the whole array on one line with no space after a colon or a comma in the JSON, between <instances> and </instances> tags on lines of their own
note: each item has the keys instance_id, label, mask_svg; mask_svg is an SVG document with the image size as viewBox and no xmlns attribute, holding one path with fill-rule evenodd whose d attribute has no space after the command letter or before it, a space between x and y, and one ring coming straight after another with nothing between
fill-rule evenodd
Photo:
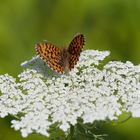
<instances>
[{"instance_id":1,"label":"blurred green background around the butterfly and white flowers","mask_svg":"<svg viewBox=\"0 0 140 140\"><path fill-rule=\"evenodd\" d=\"M0 0L0 74L17 76L20 63L35 55L35 43L67 46L76 33L86 36L85 49L140 63L140 0ZM22 140L10 119L0 119L0 140ZM104 131L108 140L139 140L140 119ZM46 138L32 134L26 140Z\"/></svg>"}]
</instances>

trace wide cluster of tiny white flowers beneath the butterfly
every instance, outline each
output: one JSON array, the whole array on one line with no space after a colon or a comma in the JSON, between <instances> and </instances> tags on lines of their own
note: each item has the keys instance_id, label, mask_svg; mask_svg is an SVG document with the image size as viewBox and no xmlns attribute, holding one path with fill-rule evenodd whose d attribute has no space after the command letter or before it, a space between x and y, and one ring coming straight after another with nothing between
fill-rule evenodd
<instances>
[{"instance_id":1,"label":"wide cluster of tiny white flowers beneath the butterfly","mask_svg":"<svg viewBox=\"0 0 140 140\"><path fill-rule=\"evenodd\" d=\"M0 76L0 116L14 115L12 127L23 137L33 132L49 136L55 123L67 133L78 118L86 124L117 120L122 112L140 117L140 65L110 61L101 67L109 54L83 51L67 74L52 73L37 56L22 63L18 82Z\"/></svg>"}]
</instances>

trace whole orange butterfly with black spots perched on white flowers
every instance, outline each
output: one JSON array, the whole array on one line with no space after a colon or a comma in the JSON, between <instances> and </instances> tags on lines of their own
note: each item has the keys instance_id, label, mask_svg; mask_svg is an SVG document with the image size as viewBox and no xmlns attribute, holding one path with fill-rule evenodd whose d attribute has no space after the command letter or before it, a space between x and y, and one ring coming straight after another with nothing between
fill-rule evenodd
<instances>
[{"instance_id":1,"label":"whole orange butterfly with black spots perched on white flowers","mask_svg":"<svg viewBox=\"0 0 140 140\"><path fill-rule=\"evenodd\" d=\"M44 42L36 44L36 53L57 73L63 74L66 70L72 70L79 60L80 53L85 45L83 34L73 38L67 48L60 49L55 45Z\"/></svg>"}]
</instances>

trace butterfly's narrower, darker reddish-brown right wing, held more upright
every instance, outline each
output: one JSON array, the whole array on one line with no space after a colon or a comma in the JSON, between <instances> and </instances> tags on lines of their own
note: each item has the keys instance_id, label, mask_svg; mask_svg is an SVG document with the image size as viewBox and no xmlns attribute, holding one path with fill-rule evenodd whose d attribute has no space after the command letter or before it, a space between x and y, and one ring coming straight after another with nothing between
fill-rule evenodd
<instances>
[{"instance_id":1,"label":"butterfly's narrower, darker reddish-brown right wing, held more upright","mask_svg":"<svg viewBox=\"0 0 140 140\"><path fill-rule=\"evenodd\" d=\"M80 53L83 49L85 43L84 35L79 34L74 37L74 39L71 41L68 52L70 54L69 58L69 69L71 70L74 68L74 66L77 64L77 61L79 60Z\"/></svg>"}]
</instances>

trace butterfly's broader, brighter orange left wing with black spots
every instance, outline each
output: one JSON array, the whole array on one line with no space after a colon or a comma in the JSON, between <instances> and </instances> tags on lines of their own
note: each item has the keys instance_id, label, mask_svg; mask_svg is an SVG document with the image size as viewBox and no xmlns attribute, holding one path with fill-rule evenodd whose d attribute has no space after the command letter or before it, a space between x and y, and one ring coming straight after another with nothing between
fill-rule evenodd
<instances>
[{"instance_id":1,"label":"butterfly's broader, brighter orange left wing with black spots","mask_svg":"<svg viewBox=\"0 0 140 140\"><path fill-rule=\"evenodd\" d=\"M50 43L36 44L36 52L48 66L58 73L64 72L64 67L61 63L61 50Z\"/></svg>"}]
</instances>

